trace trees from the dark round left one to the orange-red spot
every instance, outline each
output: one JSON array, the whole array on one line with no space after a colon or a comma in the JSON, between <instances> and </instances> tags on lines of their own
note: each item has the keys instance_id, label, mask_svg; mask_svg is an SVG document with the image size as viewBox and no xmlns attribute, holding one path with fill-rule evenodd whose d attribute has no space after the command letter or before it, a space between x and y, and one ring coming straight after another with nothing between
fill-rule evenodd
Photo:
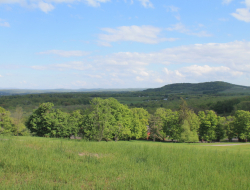
<instances>
[{"instance_id":1,"label":"trees from the dark round left one to the orange-red spot","mask_svg":"<svg viewBox=\"0 0 250 190\"><path fill-rule=\"evenodd\" d=\"M148 112L143 108L129 109L114 98L94 98L86 114L69 114L52 107L52 103L43 103L33 112L26 122L31 133L46 137L81 135L98 141L147 137Z\"/></svg>"}]
</instances>

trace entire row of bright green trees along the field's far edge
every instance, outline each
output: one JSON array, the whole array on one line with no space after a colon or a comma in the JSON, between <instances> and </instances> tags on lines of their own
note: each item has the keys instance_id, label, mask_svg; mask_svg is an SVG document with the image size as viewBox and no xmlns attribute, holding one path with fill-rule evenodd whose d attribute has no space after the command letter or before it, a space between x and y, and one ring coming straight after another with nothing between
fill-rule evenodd
<instances>
[{"instance_id":1,"label":"entire row of bright green trees along the field's far edge","mask_svg":"<svg viewBox=\"0 0 250 190\"><path fill-rule=\"evenodd\" d=\"M220 141L238 137L250 138L250 112L238 110L234 116L221 117L212 110L196 114L182 99L179 109L158 108L149 114L143 108L129 108L114 98L94 98L90 108L66 113L42 103L24 122L21 108L15 117L0 108L0 134L69 138L81 136L88 140L146 139L179 142ZM26 126L26 127L25 127Z\"/></svg>"}]
</instances>

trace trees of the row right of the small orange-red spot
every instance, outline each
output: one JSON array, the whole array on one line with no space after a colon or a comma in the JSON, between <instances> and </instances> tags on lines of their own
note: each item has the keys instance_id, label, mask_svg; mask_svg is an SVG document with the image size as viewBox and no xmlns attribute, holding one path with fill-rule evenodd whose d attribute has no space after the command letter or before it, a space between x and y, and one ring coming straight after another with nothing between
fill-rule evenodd
<instances>
[{"instance_id":1,"label":"trees of the row right of the small orange-red spot","mask_svg":"<svg viewBox=\"0 0 250 190\"><path fill-rule=\"evenodd\" d=\"M250 138L250 112L238 110L234 116L220 117L212 110L196 115L182 101L179 111L158 108L150 118L151 136L163 140L166 136L180 142L220 141L238 137Z\"/></svg>"}]
</instances>

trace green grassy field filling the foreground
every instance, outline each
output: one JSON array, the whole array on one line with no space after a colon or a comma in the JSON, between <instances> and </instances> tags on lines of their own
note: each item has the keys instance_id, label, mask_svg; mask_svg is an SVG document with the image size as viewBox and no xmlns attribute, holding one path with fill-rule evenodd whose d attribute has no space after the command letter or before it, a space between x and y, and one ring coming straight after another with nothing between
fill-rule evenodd
<instances>
[{"instance_id":1,"label":"green grassy field filling the foreground","mask_svg":"<svg viewBox=\"0 0 250 190\"><path fill-rule=\"evenodd\" d=\"M0 189L250 189L250 145L207 145L0 137Z\"/></svg>"}]
</instances>

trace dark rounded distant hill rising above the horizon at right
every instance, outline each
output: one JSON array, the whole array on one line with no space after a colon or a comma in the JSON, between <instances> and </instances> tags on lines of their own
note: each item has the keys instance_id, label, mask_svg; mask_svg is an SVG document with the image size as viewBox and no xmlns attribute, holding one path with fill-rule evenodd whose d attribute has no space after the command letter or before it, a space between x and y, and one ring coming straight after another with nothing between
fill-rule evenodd
<instances>
[{"instance_id":1,"label":"dark rounded distant hill rising above the horizon at right","mask_svg":"<svg viewBox=\"0 0 250 190\"><path fill-rule=\"evenodd\" d=\"M144 93L158 94L216 94L216 93L250 93L250 87L230 84L222 81L205 83L176 83L161 88L147 89Z\"/></svg>"}]
</instances>

